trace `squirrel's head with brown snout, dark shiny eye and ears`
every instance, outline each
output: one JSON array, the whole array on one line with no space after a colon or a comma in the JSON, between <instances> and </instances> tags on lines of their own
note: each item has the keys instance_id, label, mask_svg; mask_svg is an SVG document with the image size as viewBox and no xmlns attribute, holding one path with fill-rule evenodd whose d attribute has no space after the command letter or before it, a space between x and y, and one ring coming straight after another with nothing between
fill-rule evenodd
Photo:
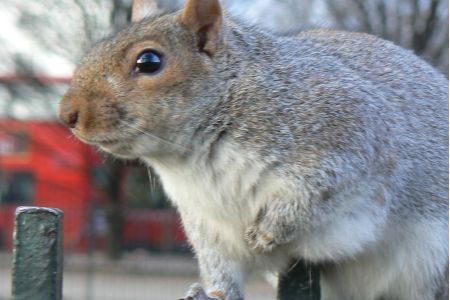
<instances>
[{"instance_id":1,"label":"squirrel's head with brown snout, dark shiny eye and ears","mask_svg":"<svg viewBox=\"0 0 450 300\"><path fill-rule=\"evenodd\" d=\"M186 151L220 82L218 0L188 0L160 16L151 4L135 1L133 23L92 48L60 104L60 119L78 138L129 158Z\"/></svg>"}]
</instances>

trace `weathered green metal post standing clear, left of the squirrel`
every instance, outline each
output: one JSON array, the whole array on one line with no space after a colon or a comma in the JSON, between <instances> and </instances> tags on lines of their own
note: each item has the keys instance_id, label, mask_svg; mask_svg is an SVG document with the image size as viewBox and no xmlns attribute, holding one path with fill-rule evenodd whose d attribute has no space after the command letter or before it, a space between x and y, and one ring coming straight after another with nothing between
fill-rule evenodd
<instances>
[{"instance_id":1,"label":"weathered green metal post standing clear, left of the squirrel","mask_svg":"<svg viewBox=\"0 0 450 300\"><path fill-rule=\"evenodd\" d=\"M63 213L19 207L13 249L13 300L62 299Z\"/></svg>"}]
</instances>

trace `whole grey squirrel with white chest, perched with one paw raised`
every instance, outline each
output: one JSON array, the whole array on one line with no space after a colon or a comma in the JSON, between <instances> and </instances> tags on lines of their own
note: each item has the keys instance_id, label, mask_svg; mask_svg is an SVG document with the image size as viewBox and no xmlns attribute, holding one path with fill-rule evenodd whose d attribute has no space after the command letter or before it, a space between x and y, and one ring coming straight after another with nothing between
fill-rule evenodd
<instances>
[{"instance_id":1,"label":"whole grey squirrel with white chest, perched with one paw raised","mask_svg":"<svg viewBox=\"0 0 450 300\"><path fill-rule=\"evenodd\" d=\"M368 34L281 37L218 0L138 2L82 59L59 117L160 176L205 286L184 299L243 299L250 270L292 257L318 264L322 299L448 293L444 75Z\"/></svg>"}]
</instances>

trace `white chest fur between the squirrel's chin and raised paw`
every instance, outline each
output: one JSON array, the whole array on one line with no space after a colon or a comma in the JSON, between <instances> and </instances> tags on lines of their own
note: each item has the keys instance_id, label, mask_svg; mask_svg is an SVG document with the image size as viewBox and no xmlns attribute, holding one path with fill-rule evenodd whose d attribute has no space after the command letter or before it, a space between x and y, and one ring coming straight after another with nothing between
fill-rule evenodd
<instances>
[{"instance_id":1,"label":"white chest fur between the squirrel's chin and raised paw","mask_svg":"<svg viewBox=\"0 0 450 300\"><path fill-rule=\"evenodd\" d=\"M223 144L209 161L199 157L188 163L147 162L160 175L182 216L201 220L211 236L218 236L218 242L233 255L252 255L244 232L281 186L281 180L254 155L243 153L236 145Z\"/></svg>"}]
</instances>

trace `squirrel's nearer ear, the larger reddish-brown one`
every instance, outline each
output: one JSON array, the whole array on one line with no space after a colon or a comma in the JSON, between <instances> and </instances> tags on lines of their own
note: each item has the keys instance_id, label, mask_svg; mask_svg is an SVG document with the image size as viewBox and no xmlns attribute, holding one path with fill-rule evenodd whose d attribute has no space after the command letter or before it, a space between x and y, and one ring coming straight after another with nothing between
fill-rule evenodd
<instances>
[{"instance_id":1,"label":"squirrel's nearer ear, the larger reddish-brown one","mask_svg":"<svg viewBox=\"0 0 450 300\"><path fill-rule=\"evenodd\" d=\"M219 0L187 0L181 12L181 23L197 34L199 49L212 56L222 26Z\"/></svg>"}]
</instances>

